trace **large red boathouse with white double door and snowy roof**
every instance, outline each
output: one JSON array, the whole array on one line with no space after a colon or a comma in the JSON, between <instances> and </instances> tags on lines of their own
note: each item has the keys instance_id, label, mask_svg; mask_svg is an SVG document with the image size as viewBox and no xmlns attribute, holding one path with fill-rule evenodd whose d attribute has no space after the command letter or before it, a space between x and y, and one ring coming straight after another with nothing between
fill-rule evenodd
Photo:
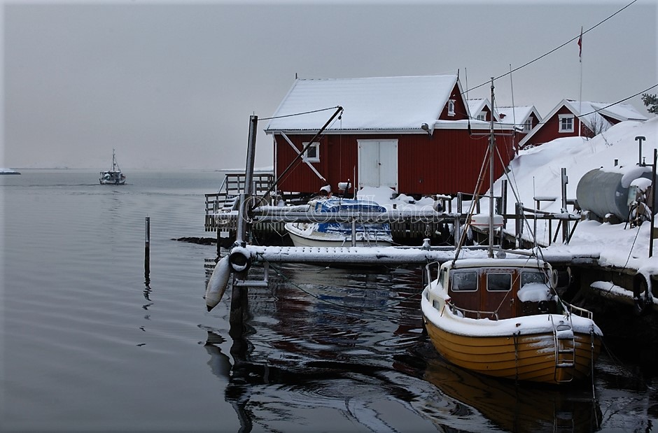
<instances>
[{"instance_id":1,"label":"large red boathouse with white double door and snowy roof","mask_svg":"<svg viewBox=\"0 0 658 433\"><path fill-rule=\"evenodd\" d=\"M310 145L277 189L316 193L350 181L408 195L475 192L489 145L489 122L471 120L458 76L297 79L269 120L274 176L341 106L344 112ZM323 110L323 111L320 111ZM511 125L494 124L494 176L514 152ZM505 135L503 135L505 134ZM488 176L480 192L489 188Z\"/></svg>"}]
</instances>

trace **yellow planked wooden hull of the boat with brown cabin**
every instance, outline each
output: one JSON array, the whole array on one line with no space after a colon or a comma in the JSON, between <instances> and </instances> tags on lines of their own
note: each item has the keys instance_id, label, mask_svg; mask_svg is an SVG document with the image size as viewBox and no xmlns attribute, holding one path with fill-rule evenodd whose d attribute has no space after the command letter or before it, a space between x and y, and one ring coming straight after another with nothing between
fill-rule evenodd
<instances>
[{"instance_id":1,"label":"yellow planked wooden hull of the boat with brown cabin","mask_svg":"<svg viewBox=\"0 0 658 433\"><path fill-rule=\"evenodd\" d=\"M552 332L507 336L465 336L437 327L424 317L437 352L459 367L488 376L564 383L591 374L592 363L601 351L596 334L574 333L573 367L560 367Z\"/></svg>"}]
</instances>

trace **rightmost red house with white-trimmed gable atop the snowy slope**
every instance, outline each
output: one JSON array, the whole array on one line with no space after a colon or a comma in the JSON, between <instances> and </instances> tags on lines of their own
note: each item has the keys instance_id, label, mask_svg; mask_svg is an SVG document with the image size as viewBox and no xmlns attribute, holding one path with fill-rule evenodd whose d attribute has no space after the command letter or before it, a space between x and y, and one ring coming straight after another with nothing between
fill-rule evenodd
<instances>
[{"instance_id":1,"label":"rightmost red house with white-trimmed gable atop the snowy slope","mask_svg":"<svg viewBox=\"0 0 658 433\"><path fill-rule=\"evenodd\" d=\"M563 99L519 142L522 148L542 145L562 137L594 137L626 120L644 122L647 118L631 104L572 101Z\"/></svg>"}]
</instances>

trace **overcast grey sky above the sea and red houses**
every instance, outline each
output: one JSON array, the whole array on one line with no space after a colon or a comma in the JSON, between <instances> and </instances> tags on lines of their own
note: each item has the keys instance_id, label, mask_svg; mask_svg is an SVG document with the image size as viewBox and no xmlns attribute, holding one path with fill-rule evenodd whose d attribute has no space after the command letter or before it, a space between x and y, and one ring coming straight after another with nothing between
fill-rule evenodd
<instances>
[{"instance_id":1,"label":"overcast grey sky above the sea and red houses","mask_svg":"<svg viewBox=\"0 0 658 433\"><path fill-rule=\"evenodd\" d=\"M472 88L631 1L6 1L0 166L100 170L116 148L124 171L241 168L249 115L272 115L295 73L459 69ZM658 83L657 20L657 2L638 0L584 34L584 101L615 102ZM577 42L514 71L512 83L496 80L497 105L512 104L512 87L514 104L533 104L541 115L561 99L578 99ZM487 83L468 96L489 92ZM647 114L639 97L629 102ZM265 123L257 166L272 165Z\"/></svg>"}]
</instances>

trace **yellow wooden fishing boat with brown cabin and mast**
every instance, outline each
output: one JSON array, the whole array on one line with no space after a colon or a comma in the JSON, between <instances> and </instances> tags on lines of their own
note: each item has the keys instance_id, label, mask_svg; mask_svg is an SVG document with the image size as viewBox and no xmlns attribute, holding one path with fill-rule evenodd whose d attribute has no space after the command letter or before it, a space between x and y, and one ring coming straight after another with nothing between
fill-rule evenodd
<instances>
[{"instance_id":1,"label":"yellow wooden fishing boat with brown cabin and mast","mask_svg":"<svg viewBox=\"0 0 658 433\"><path fill-rule=\"evenodd\" d=\"M556 274L535 253L512 257L498 250L494 257L500 221L493 215L494 146L492 122L487 257L463 257L460 241L453 260L426 266L421 310L428 336L445 360L488 376L555 384L582 379L601 350L592 313L559 297ZM467 224L474 220L483 218Z\"/></svg>"}]
</instances>

